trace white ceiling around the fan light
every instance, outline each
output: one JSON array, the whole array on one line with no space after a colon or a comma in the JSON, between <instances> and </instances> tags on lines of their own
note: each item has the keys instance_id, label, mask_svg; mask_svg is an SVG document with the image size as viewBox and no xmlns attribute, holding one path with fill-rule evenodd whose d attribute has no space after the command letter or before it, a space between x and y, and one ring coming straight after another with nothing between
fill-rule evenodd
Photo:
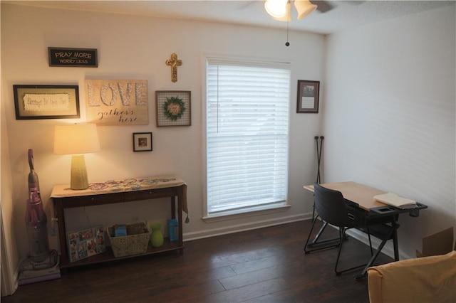
<instances>
[{"instance_id":1,"label":"white ceiling around the fan light","mask_svg":"<svg viewBox=\"0 0 456 303\"><path fill-rule=\"evenodd\" d=\"M291 0L293 1L293 0ZM6 3L44 6L49 8L76 9L82 11L103 11L105 13L156 16L202 21L215 21L232 24L284 28L286 22L275 21L264 10L264 1L232 0L115 0L115 1L2 1ZM322 8L330 4L332 9L321 13L314 11L302 20L296 20L296 10L292 8L293 21L290 30L311 31L314 33L335 33L337 31L363 26L368 23L416 14L454 4L455 1L314 1Z\"/></svg>"}]
</instances>

